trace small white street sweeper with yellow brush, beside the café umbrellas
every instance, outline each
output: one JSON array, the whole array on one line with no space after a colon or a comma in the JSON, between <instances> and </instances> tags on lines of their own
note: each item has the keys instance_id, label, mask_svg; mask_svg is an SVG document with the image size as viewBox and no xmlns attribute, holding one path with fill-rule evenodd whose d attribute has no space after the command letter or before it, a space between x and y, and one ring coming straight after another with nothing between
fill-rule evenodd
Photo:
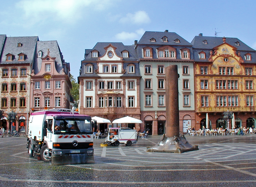
<instances>
[{"instance_id":1,"label":"small white street sweeper with yellow brush, beside the caf\u00e9 umbrellas","mask_svg":"<svg viewBox=\"0 0 256 187\"><path fill-rule=\"evenodd\" d=\"M131 146L138 140L138 133L135 129L111 127L108 128L108 136L106 142L114 146L119 146L120 143L124 143L127 146Z\"/></svg>"}]
</instances>

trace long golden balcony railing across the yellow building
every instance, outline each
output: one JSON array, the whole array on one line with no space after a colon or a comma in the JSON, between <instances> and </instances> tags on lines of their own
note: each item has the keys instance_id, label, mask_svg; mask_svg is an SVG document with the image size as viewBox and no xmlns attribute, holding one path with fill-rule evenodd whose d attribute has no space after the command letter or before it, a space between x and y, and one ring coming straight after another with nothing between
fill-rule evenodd
<instances>
[{"instance_id":1,"label":"long golden balcony railing across the yellow building","mask_svg":"<svg viewBox=\"0 0 256 187\"><path fill-rule=\"evenodd\" d=\"M198 112L253 112L256 111L256 106L248 107L199 107Z\"/></svg>"}]
</instances>

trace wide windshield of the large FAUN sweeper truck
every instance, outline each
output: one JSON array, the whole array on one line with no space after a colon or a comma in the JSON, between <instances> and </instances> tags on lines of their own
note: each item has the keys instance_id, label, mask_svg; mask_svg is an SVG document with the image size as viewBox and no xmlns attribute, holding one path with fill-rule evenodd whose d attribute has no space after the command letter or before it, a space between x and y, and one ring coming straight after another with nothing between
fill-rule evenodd
<instances>
[{"instance_id":1,"label":"wide windshield of the large FAUN sweeper truck","mask_svg":"<svg viewBox=\"0 0 256 187\"><path fill-rule=\"evenodd\" d=\"M90 120L55 119L55 134L88 134L92 132Z\"/></svg>"}]
</instances>

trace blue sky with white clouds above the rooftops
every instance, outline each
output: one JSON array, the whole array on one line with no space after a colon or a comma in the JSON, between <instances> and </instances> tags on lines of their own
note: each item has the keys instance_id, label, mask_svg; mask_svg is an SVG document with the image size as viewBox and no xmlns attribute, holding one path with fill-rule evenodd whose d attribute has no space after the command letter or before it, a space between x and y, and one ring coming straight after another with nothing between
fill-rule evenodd
<instances>
[{"instance_id":1,"label":"blue sky with white clouds above the rooftops","mask_svg":"<svg viewBox=\"0 0 256 187\"><path fill-rule=\"evenodd\" d=\"M235 37L256 49L254 0L0 0L0 34L57 40L77 79L85 49L133 45L145 31Z\"/></svg>"}]
</instances>

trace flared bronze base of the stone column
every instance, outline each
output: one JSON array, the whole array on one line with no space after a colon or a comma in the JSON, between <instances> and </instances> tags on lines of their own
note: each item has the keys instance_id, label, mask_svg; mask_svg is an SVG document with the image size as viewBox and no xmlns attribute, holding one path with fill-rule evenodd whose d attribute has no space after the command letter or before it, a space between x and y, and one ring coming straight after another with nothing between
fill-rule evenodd
<instances>
[{"instance_id":1,"label":"flared bronze base of the stone column","mask_svg":"<svg viewBox=\"0 0 256 187\"><path fill-rule=\"evenodd\" d=\"M162 135L158 145L147 147L147 152L160 152L160 153L183 153L187 151L198 150L198 146L192 146L188 143L184 135L180 137L165 137Z\"/></svg>"}]
</instances>

